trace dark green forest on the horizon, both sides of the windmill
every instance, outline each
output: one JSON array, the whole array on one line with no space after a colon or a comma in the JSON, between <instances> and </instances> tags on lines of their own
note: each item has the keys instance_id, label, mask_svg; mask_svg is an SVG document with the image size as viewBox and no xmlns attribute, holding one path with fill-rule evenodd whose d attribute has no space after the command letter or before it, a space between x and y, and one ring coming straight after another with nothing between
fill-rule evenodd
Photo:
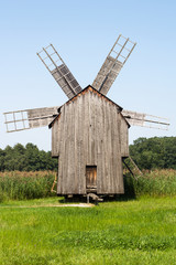
<instances>
[{"instance_id":1,"label":"dark green forest on the horizon, both sides of the windmill","mask_svg":"<svg viewBox=\"0 0 176 265\"><path fill-rule=\"evenodd\" d=\"M130 145L130 156L141 170L176 169L176 137L138 138ZM7 146L0 149L0 171L14 170L56 171L57 159L33 144Z\"/></svg>"}]
</instances>

